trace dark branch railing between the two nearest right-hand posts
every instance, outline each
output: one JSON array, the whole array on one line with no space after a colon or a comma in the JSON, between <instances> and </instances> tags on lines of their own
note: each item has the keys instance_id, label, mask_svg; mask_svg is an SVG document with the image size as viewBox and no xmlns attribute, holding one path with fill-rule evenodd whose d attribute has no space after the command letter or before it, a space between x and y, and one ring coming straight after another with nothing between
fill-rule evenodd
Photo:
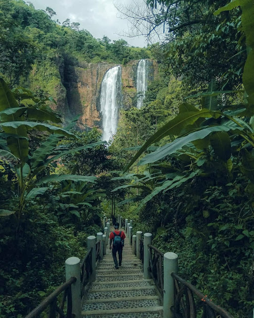
<instances>
[{"instance_id":1,"label":"dark branch railing between the two nearest right-hand posts","mask_svg":"<svg viewBox=\"0 0 254 318\"><path fill-rule=\"evenodd\" d=\"M148 244L149 248L149 273L152 276L158 291L163 296L163 255L158 248Z\"/></svg>"}]
</instances>

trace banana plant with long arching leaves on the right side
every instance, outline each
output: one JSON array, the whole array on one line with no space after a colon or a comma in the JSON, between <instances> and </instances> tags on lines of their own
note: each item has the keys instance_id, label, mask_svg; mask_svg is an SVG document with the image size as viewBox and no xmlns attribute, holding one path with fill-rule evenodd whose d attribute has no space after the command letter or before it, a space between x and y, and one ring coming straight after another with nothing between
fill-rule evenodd
<instances>
[{"instance_id":1,"label":"banana plant with long arching leaves on the right side","mask_svg":"<svg viewBox=\"0 0 254 318\"><path fill-rule=\"evenodd\" d=\"M141 201L138 209L158 193L162 191L165 193L174 187L181 186L184 182L188 182L188 180L191 181L197 175L206 173L207 171L202 171L201 166L204 163L204 159L202 159L203 152L200 153L198 151L200 149L210 147L222 168L227 171L228 178L230 178L233 166L231 159L232 145L237 143L239 158L241 158L242 164L241 170L251 181L254 180L252 173L254 157L247 150L248 148L254 148L254 20L252 18L254 15L254 6L252 0L233 0L223 8L217 10L215 14L230 10L236 6L241 6L242 29L246 35L246 45L248 48L248 58L243 74L245 103L239 105L218 105L217 96L219 94L244 93L244 90L217 91L216 83L213 80L206 92L190 96L202 97L200 108L186 102L180 105L179 114L167 122L143 146L137 149L137 153L127 164L124 172L148 149L151 152L141 158L138 165L148 164L150 166L158 162L164 164L163 160L168 160L169 157L180 159L185 154L192 157L197 167L184 175L176 175L168 180L165 177L164 182ZM163 145L163 138L166 136L170 136L172 142ZM153 150L152 145L154 143L160 144L161 147ZM196 148L196 154L190 153L190 145Z\"/></svg>"}]
</instances>

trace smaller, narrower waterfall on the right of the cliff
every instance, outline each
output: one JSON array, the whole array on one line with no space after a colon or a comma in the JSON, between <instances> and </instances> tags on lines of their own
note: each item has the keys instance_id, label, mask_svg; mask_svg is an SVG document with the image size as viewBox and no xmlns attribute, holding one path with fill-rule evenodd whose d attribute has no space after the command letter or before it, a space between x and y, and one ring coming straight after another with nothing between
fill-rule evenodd
<instances>
[{"instance_id":1,"label":"smaller, narrower waterfall on the right of the cliff","mask_svg":"<svg viewBox=\"0 0 254 318\"><path fill-rule=\"evenodd\" d=\"M137 66L137 108L140 109L147 88L147 60L140 60Z\"/></svg>"}]
</instances>

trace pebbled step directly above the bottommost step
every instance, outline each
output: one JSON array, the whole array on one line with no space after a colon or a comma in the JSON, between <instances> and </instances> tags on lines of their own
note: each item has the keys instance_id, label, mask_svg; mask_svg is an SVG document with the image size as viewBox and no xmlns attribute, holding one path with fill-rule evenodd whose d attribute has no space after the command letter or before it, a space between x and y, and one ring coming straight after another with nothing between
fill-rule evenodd
<instances>
[{"instance_id":1,"label":"pebbled step directly above the bottommost step","mask_svg":"<svg viewBox=\"0 0 254 318\"><path fill-rule=\"evenodd\" d=\"M158 307L160 306L159 296L138 296L138 297L119 297L106 298L106 299L95 299L87 300L83 306L82 310L93 311L93 310L111 310L115 309L119 311L120 309L129 308L148 308L148 307Z\"/></svg>"}]
</instances>

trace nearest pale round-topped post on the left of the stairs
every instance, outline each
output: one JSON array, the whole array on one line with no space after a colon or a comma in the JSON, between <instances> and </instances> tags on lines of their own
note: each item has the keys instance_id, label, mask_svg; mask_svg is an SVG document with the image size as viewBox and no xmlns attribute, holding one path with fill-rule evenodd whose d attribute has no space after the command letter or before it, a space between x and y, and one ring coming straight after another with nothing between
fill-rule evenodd
<instances>
[{"instance_id":1,"label":"nearest pale round-topped post on the left of the stairs","mask_svg":"<svg viewBox=\"0 0 254 318\"><path fill-rule=\"evenodd\" d=\"M80 285L80 259L69 257L65 260L65 279L76 277L76 282L71 284L72 314L81 318L81 285Z\"/></svg>"}]
</instances>

